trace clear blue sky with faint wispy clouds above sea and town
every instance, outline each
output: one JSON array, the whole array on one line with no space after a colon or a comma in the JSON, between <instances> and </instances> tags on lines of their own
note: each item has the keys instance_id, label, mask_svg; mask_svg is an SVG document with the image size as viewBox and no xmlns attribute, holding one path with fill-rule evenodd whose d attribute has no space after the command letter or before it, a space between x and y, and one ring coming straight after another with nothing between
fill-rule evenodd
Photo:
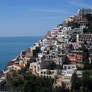
<instances>
[{"instance_id":1,"label":"clear blue sky with faint wispy clouds above sea and town","mask_svg":"<svg viewBox=\"0 0 92 92\"><path fill-rule=\"evenodd\" d=\"M80 8L92 8L92 1L0 0L0 37L45 35Z\"/></svg>"}]
</instances>

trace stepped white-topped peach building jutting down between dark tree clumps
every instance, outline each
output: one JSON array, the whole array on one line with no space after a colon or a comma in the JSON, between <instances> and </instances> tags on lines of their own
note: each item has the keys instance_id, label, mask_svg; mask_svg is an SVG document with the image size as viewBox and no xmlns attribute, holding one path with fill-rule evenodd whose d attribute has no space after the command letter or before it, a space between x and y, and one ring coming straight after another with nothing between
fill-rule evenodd
<instances>
[{"instance_id":1,"label":"stepped white-topped peach building jutting down between dark tree clumps","mask_svg":"<svg viewBox=\"0 0 92 92\"><path fill-rule=\"evenodd\" d=\"M61 75L58 75L55 86L62 87L63 85L67 89L71 89L71 78L74 72L77 70L76 65L64 64L61 71Z\"/></svg>"}]
</instances>

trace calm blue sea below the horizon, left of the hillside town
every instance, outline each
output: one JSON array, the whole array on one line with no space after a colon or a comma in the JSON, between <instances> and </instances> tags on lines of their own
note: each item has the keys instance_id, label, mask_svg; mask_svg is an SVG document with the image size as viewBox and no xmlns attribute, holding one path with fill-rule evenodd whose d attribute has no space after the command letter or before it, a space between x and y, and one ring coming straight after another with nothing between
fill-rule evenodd
<instances>
[{"instance_id":1,"label":"calm blue sea below the horizon, left of the hillside town","mask_svg":"<svg viewBox=\"0 0 92 92\"><path fill-rule=\"evenodd\" d=\"M0 37L0 70L3 70L8 62L38 42L41 36L32 37Z\"/></svg>"}]
</instances>

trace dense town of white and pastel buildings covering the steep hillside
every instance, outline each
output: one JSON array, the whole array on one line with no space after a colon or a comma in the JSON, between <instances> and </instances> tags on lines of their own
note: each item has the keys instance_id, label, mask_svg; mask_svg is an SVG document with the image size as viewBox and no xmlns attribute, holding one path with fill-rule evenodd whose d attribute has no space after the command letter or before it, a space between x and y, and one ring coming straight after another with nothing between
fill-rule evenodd
<instances>
[{"instance_id":1,"label":"dense town of white and pastel buildings covering the steep hillside","mask_svg":"<svg viewBox=\"0 0 92 92\"><path fill-rule=\"evenodd\" d=\"M53 87L71 89L74 73L83 76L86 62L92 63L92 9L79 9L62 24L48 31L33 47L21 51L0 73L0 85L7 74L29 71L39 77L53 78Z\"/></svg>"}]
</instances>

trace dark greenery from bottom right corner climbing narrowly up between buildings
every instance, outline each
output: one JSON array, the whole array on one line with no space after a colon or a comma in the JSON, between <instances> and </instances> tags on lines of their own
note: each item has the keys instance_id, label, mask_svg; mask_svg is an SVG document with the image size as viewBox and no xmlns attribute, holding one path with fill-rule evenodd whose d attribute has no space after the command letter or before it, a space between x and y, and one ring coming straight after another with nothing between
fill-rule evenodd
<instances>
[{"instance_id":1,"label":"dark greenery from bottom right corner climbing narrowly up between buildings","mask_svg":"<svg viewBox=\"0 0 92 92\"><path fill-rule=\"evenodd\" d=\"M82 78L78 78L74 73L71 80L71 92L92 92L92 62L89 62L89 50L84 42L81 50L83 51L84 69Z\"/></svg>"}]
</instances>

